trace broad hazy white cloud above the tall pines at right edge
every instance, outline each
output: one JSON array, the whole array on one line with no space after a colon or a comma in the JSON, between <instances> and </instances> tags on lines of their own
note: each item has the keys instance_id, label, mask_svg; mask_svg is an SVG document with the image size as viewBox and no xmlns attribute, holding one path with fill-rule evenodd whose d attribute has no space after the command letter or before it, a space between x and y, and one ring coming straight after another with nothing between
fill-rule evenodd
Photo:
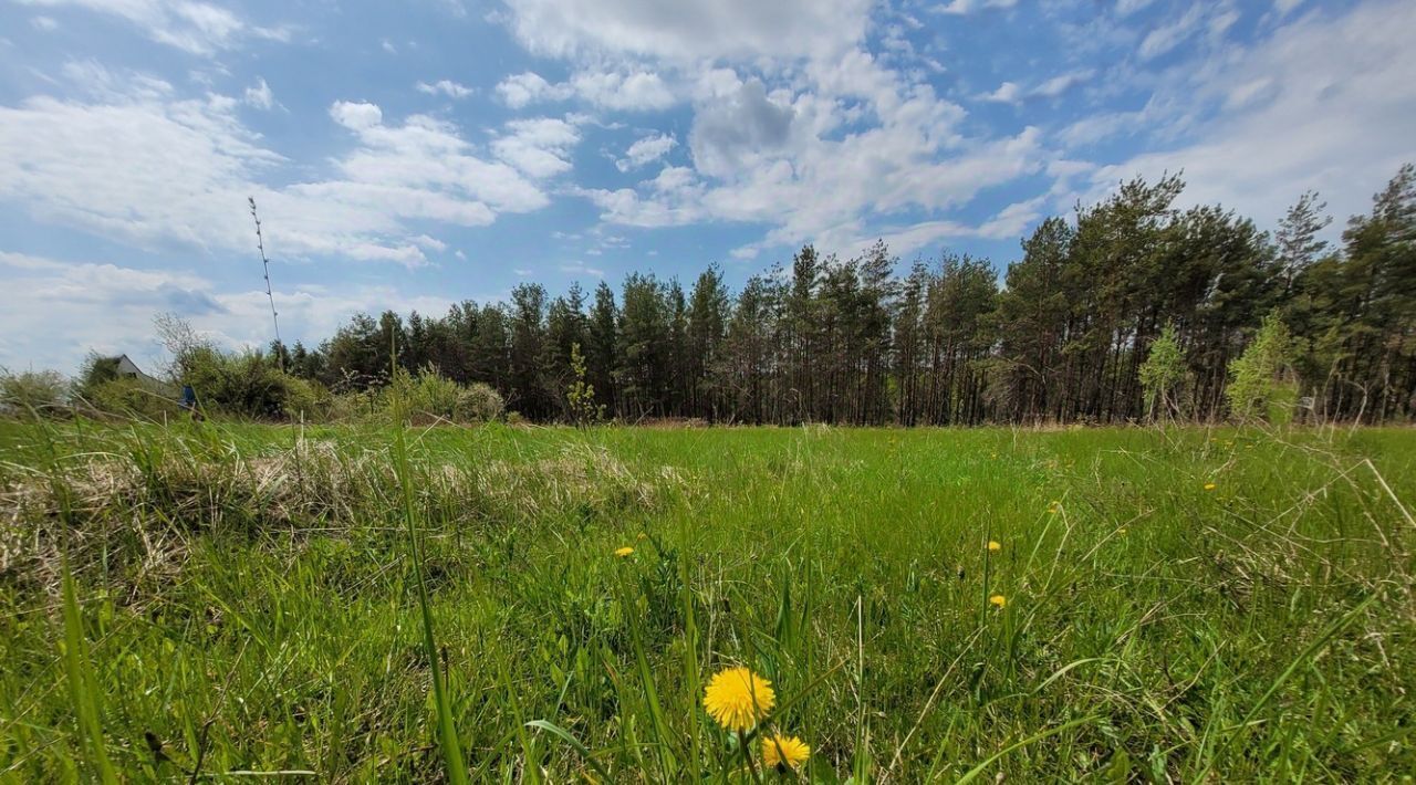
<instances>
[{"instance_id":1,"label":"broad hazy white cloud above the tall pines at right edge","mask_svg":"<svg viewBox=\"0 0 1416 785\"><path fill-rule=\"evenodd\" d=\"M1365 212L1369 195L1412 160L1412 28L1416 4L1379 1L1310 14L1249 50L1219 52L1209 68L1163 86L1160 100L1215 115L1185 144L1099 168L1095 192L1134 174L1184 170L1187 201L1222 202L1260 226L1310 188L1340 218Z\"/></svg>"}]
</instances>

